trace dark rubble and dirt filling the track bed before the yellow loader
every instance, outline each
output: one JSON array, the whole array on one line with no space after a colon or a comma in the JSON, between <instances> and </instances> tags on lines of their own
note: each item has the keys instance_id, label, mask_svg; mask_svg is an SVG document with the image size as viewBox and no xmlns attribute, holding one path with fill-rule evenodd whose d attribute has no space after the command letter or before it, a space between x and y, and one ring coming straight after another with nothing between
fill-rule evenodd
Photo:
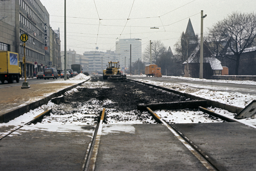
<instances>
[{"instance_id":1,"label":"dark rubble and dirt filling the track bed before the yellow loader","mask_svg":"<svg viewBox=\"0 0 256 171\"><path fill-rule=\"evenodd\" d=\"M91 82L103 81L102 77L91 78ZM138 104L163 103L189 100L163 90L155 89L134 82L105 81L106 88L80 87L72 95L66 96L64 103L86 102L92 98L103 103L104 100L111 100L114 103L102 105L105 108L115 108L118 111L136 110ZM77 105L73 103L74 107Z\"/></svg>"}]
</instances>

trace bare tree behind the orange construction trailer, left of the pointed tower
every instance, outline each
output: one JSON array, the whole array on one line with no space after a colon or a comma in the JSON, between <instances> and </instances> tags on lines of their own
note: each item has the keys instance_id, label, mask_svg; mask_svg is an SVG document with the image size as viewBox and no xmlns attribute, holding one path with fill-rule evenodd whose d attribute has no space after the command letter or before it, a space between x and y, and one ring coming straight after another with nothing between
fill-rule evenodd
<instances>
[{"instance_id":1,"label":"bare tree behind the orange construction trailer, left of the pointed tower","mask_svg":"<svg viewBox=\"0 0 256 171\"><path fill-rule=\"evenodd\" d=\"M151 54L152 54L152 64L159 65L159 59L162 54L166 52L166 47L160 41L153 41L151 45ZM142 54L142 58L144 62L150 62L150 44L147 45L145 51Z\"/></svg>"}]
</instances>

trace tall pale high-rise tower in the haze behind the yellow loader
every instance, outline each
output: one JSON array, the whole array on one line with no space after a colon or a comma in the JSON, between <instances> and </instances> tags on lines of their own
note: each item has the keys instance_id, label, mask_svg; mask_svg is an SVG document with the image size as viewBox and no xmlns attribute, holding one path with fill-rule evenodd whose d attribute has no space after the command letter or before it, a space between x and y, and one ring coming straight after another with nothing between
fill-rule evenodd
<instances>
[{"instance_id":1,"label":"tall pale high-rise tower in the haze behind the yellow loader","mask_svg":"<svg viewBox=\"0 0 256 171\"><path fill-rule=\"evenodd\" d=\"M130 50L132 50L132 62L138 61L138 59L141 60L141 41L139 39L119 39L116 42L116 53L118 54L121 68L129 68Z\"/></svg>"}]
</instances>

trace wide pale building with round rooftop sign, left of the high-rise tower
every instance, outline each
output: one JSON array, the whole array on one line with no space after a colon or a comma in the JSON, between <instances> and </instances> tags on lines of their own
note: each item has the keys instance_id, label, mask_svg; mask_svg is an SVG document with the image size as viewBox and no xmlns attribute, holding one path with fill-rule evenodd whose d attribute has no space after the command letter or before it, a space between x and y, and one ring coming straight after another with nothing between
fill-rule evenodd
<instances>
[{"instance_id":1,"label":"wide pale building with round rooftop sign, left of the high-rise tower","mask_svg":"<svg viewBox=\"0 0 256 171\"><path fill-rule=\"evenodd\" d=\"M103 69L106 69L108 62L117 62L118 55L114 51L99 52L99 51L90 51L84 52L84 56L89 59L89 68L88 72L103 72Z\"/></svg>"}]
</instances>

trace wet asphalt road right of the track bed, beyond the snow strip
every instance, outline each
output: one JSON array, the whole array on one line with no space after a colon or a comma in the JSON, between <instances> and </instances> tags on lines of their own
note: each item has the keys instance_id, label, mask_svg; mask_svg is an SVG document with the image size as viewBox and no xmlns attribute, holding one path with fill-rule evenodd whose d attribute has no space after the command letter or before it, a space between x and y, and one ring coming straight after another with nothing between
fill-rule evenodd
<instances>
[{"instance_id":1,"label":"wet asphalt road right of the track bed, beyond the snow strip","mask_svg":"<svg viewBox=\"0 0 256 171\"><path fill-rule=\"evenodd\" d=\"M251 84L236 84L228 82L205 82L200 80L186 80L172 77L146 77L146 76L128 76L131 79L144 79L156 82L169 82L179 84L197 89L209 89L212 91L223 91L223 92L239 92L242 94L253 94L256 95L256 85Z\"/></svg>"}]
</instances>

